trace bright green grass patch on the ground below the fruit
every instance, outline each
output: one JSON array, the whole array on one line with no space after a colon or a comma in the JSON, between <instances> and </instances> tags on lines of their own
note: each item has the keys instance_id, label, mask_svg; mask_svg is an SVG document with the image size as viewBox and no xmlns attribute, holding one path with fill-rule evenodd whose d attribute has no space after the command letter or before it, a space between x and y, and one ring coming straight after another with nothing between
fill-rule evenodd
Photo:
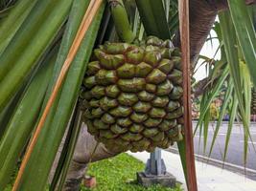
<instances>
[{"instance_id":1,"label":"bright green grass patch on the ground below the fruit","mask_svg":"<svg viewBox=\"0 0 256 191\"><path fill-rule=\"evenodd\" d=\"M145 188L136 182L136 172L144 171L145 164L128 154L120 154L112 159L104 159L89 165L87 175L95 176L97 187L88 189L81 187L81 191L181 191L182 189L167 188L154 185Z\"/></svg>"}]
</instances>

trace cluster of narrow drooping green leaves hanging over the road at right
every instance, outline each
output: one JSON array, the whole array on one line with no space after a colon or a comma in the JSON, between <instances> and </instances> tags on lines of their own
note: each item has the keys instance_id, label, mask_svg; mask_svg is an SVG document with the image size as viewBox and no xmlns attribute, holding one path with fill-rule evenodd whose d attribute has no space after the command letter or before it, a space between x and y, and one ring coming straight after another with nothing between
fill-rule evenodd
<instances>
[{"instance_id":1,"label":"cluster of narrow drooping green leaves hanging over the road at right","mask_svg":"<svg viewBox=\"0 0 256 191\"><path fill-rule=\"evenodd\" d=\"M236 2L230 1L229 6L230 7L233 6L233 8L230 9L231 14L229 13L229 11L221 12L219 14L220 23L216 22L214 25L213 29L217 33L218 39L221 44L220 49L221 49L222 65L220 65L220 62L216 62L214 65L214 68L216 68L216 70L213 70L208 76L212 79L213 83L212 84L208 83L207 89L206 89L207 91L205 91L205 93L202 96L203 97L202 100L204 101L200 103L200 117L198 119L198 126L196 130L198 129L198 127L200 129L200 132L202 132L202 128L204 129L203 131L204 131L204 151L205 151L206 142L208 139L206 132L208 130L207 125L209 122L209 119L206 115L207 107L209 107L211 102L214 100L214 97L224 94L224 97L222 98L223 102L220 110L221 112L220 117L214 129L214 137L211 141L211 146L210 146L208 156L210 157L210 155L212 154L214 144L216 142L216 138L218 136L218 133L221 127L221 120L223 116L227 113L230 116L230 121L227 129L225 147L223 150L223 160L226 159L229 138L233 129L233 122L235 120L235 117L240 117L238 119L242 120L243 126L244 126L244 165L245 165L246 159L247 159L247 148L248 148L247 142L248 142L248 139L251 138L249 125L250 125L250 101L251 101L250 76L252 76L252 74L249 74L248 72L248 68L250 68L250 66L249 66L249 63L246 62L244 57L243 49L245 49L245 42L244 42L244 45L242 45L243 42L241 42L242 35L244 34L242 33L242 31L240 31L239 33L239 30L241 30L240 28L242 26L241 23L243 22L243 20L249 19L247 15L247 11L250 8L245 8L245 6L241 6L241 4L242 2L241 1L239 2L239 0ZM240 19L240 23L238 23L238 20L234 21L235 18ZM245 27L248 27L249 25L251 26L252 24L250 19L247 20L246 23L247 24L245 25ZM250 28L250 31L251 31L251 28ZM241 36L239 37L239 35ZM248 35L250 36L247 36L247 37L252 39L253 36L255 35L255 31L248 32ZM252 40L247 42L252 42ZM253 43L251 43L251 45L246 46L246 49L249 49L247 50L248 52L255 51L255 48L251 46L253 46ZM256 54L252 52L248 53L248 55L250 56L250 59L255 59ZM254 62L254 64L255 63L256 62ZM220 71L221 73L223 72L223 67L225 67L227 70L226 71L227 75L225 79L222 81L223 88L220 87L219 89L214 89L214 87L218 82L213 80L213 78L214 76L218 75ZM213 90L216 90L214 97L209 96L209 89L210 89L210 92ZM231 105L230 110L228 109L229 105ZM202 125L202 123L204 123L204 125Z\"/></svg>"}]
</instances>

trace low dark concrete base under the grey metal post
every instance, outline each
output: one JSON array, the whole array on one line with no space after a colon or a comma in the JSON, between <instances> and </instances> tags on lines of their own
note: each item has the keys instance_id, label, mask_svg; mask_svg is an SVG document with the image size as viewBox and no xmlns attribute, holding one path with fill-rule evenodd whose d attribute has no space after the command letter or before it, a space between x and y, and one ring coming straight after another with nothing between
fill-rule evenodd
<instances>
[{"instance_id":1,"label":"low dark concrete base under the grey metal post","mask_svg":"<svg viewBox=\"0 0 256 191\"><path fill-rule=\"evenodd\" d=\"M176 184L176 179L173 175L166 173L161 176L146 175L144 172L137 173L137 180L140 184L145 187L150 187L152 184L160 184L166 187L174 188Z\"/></svg>"}]
</instances>

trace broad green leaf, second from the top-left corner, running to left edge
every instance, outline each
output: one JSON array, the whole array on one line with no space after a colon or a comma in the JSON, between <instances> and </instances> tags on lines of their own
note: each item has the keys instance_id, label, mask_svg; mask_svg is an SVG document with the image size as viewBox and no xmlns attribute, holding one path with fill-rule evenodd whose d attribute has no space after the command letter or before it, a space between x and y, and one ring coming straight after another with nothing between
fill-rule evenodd
<instances>
[{"instance_id":1,"label":"broad green leaf, second from the top-left corner, running to left edge","mask_svg":"<svg viewBox=\"0 0 256 191\"><path fill-rule=\"evenodd\" d=\"M38 1L0 56L0 111L35 67L67 17L72 0Z\"/></svg>"}]
</instances>

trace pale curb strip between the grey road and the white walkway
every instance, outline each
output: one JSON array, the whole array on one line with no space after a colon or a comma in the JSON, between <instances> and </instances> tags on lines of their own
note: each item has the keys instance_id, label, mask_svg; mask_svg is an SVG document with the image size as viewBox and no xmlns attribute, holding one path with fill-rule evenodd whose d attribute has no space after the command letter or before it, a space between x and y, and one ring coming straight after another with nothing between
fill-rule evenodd
<instances>
[{"instance_id":1,"label":"pale curb strip between the grey road and the white walkway","mask_svg":"<svg viewBox=\"0 0 256 191\"><path fill-rule=\"evenodd\" d=\"M175 148L168 148L165 149L165 151L174 153L174 154L179 154L178 150ZM214 166L218 166L220 167L222 170L228 170L231 171L233 173L239 174L244 176L245 178L248 178L250 180L256 180L256 170L250 169L250 168L244 168L242 166L239 165L235 165L229 162L224 162L219 160L219 159L211 159L211 158L207 158L201 155L197 155L195 154L195 159L197 159L198 161L201 161L203 163L206 164L211 164ZM224 165L224 167L223 167Z\"/></svg>"}]
</instances>

